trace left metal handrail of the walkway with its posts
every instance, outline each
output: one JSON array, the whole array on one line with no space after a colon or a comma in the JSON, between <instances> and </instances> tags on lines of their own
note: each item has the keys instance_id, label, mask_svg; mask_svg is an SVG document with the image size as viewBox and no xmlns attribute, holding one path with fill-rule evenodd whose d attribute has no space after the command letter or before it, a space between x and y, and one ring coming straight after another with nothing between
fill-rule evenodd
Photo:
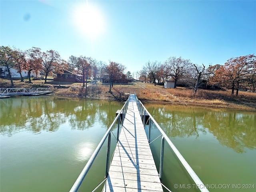
<instances>
[{"instance_id":1,"label":"left metal handrail of the walkway with its posts","mask_svg":"<svg viewBox=\"0 0 256 192\"><path fill-rule=\"evenodd\" d=\"M120 123L122 124L123 120L124 120L124 116L128 110L128 104L130 101L130 96L128 98L128 100L125 102L124 106L122 107L122 109L120 110L120 112L118 113L118 115L116 116L116 118L114 119L114 121L112 122L112 124L110 125L110 127L108 128L107 132L104 134L102 140L100 141L100 143L98 144L98 146L96 147L96 149L94 150L92 156L90 157L90 159L88 160L88 162L86 163L86 165L84 166L82 172L80 173L80 175L78 176L78 178L76 179L76 182L74 183L74 185L72 186L72 188L70 189L70 192L77 192L78 189L80 188L86 174L88 173L90 167L92 166L92 163L94 162L96 156L98 155L98 153L100 152L100 149L102 148L105 140L108 138L108 149L107 149L107 159L106 159L106 175L105 178L107 178L108 176L108 171L109 171L109 166L110 166L110 139L111 139L111 130L114 127L114 124L116 123L116 121L118 121L118 130L117 130L117 140L118 140L118 136L120 133ZM120 114L122 113L122 121L120 120ZM122 126L121 126L122 128Z\"/></svg>"}]
</instances>

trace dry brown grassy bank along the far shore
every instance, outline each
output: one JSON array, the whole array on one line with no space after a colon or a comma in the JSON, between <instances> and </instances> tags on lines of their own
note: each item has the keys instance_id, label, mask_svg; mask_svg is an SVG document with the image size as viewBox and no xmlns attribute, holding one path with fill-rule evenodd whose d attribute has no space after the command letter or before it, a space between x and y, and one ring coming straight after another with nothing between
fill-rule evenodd
<instances>
[{"instance_id":1,"label":"dry brown grassy bank along the far shore","mask_svg":"<svg viewBox=\"0 0 256 192\"><path fill-rule=\"evenodd\" d=\"M98 99L127 100L130 93L136 92L143 103L191 105L218 108L232 108L237 110L256 111L256 93L239 92L238 96L231 95L231 90L198 90L196 95L193 90L186 88L164 89L163 86L146 84L142 88L138 84L115 84L112 93L109 93L109 84L92 84L88 86L87 93L81 83L54 82L48 80L34 80L33 84L14 80L16 88L32 88L50 86L53 94L60 96L88 97ZM10 80L0 79L0 86L10 87Z\"/></svg>"}]
</instances>

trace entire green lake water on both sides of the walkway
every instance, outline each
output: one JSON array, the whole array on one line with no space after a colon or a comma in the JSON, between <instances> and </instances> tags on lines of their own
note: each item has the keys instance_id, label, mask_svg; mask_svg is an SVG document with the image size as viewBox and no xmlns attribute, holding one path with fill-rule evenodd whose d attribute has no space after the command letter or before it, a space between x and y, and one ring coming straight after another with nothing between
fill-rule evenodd
<instances>
[{"instance_id":1,"label":"entire green lake water on both sides of the walkway","mask_svg":"<svg viewBox=\"0 0 256 192\"><path fill-rule=\"evenodd\" d=\"M55 96L1 99L0 191L70 190L123 104ZM256 191L255 112L145 106L209 191ZM158 135L152 126L151 140ZM112 152L115 144L112 137ZM150 146L159 166L160 139ZM105 166L106 144L80 191L100 184ZM163 183L173 192L198 191L167 144Z\"/></svg>"}]
</instances>

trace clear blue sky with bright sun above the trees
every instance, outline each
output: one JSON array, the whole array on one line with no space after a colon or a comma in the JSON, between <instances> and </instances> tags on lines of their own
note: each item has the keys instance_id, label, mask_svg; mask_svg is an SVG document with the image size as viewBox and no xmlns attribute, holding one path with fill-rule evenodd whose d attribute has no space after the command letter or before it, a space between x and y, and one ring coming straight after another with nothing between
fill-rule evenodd
<instances>
[{"instance_id":1,"label":"clear blue sky with bright sun above the trees","mask_svg":"<svg viewBox=\"0 0 256 192\"><path fill-rule=\"evenodd\" d=\"M224 64L256 53L256 1L0 0L0 45L122 63Z\"/></svg>"}]
</instances>

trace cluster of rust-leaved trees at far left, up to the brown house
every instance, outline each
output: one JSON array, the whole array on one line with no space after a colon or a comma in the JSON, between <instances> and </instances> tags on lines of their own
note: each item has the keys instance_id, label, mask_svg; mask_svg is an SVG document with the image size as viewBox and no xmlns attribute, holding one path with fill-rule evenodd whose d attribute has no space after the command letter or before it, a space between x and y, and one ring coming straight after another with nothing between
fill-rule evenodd
<instances>
[{"instance_id":1,"label":"cluster of rust-leaved trees at far left, up to the brown house","mask_svg":"<svg viewBox=\"0 0 256 192\"><path fill-rule=\"evenodd\" d=\"M60 57L60 54L54 50L42 52L40 48L32 47L28 50L19 50L8 46L0 48L0 66L5 66L13 87L11 68L17 70L20 79L23 82L22 70L28 71L28 81L31 83L30 74L34 71L36 74L43 72L45 75L44 83L47 76L53 72L63 72L67 68L67 63Z\"/></svg>"}]
</instances>

